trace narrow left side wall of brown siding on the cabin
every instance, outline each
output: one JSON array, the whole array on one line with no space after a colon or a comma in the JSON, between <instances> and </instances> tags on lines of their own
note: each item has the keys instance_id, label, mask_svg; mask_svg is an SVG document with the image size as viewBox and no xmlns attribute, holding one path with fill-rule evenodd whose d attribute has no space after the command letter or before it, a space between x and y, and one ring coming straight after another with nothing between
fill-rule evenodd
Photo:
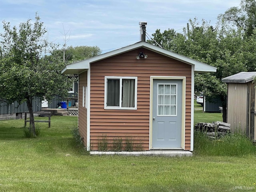
<instances>
[{"instance_id":1,"label":"narrow left side wall of brown siding on the cabin","mask_svg":"<svg viewBox=\"0 0 256 192\"><path fill-rule=\"evenodd\" d=\"M87 86L87 71L79 75L78 86L78 128L84 146L87 146L87 109L82 106L83 86Z\"/></svg>"}]
</instances>

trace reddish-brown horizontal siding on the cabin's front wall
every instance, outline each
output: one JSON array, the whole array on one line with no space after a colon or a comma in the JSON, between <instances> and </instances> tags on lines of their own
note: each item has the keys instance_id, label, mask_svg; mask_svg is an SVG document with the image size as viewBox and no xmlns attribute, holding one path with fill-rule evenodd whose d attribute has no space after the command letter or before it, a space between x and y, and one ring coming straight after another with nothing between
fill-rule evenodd
<instances>
[{"instance_id":1,"label":"reddish-brown horizontal siding on the cabin's front wall","mask_svg":"<svg viewBox=\"0 0 256 192\"><path fill-rule=\"evenodd\" d=\"M148 54L147 59L136 60L138 52ZM149 149L150 76L186 76L186 140L190 150L191 66L161 56L150 50L133 50L91 64L90 139L91 149L98 150L98 142L106 136L109 144L114 137L132 137ZM138 77L137 110L104 110L104 77Z\"/></svg>"}]
</instances>

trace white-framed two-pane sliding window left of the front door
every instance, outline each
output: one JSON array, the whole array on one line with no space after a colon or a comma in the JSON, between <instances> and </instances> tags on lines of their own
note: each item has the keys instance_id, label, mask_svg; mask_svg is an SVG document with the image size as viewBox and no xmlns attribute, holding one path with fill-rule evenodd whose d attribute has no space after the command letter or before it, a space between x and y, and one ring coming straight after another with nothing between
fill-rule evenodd
<instances>
[{"instance_id":1,"label":"white-framed two-pane sliding window left of the front door","mask_svg":"<svg viewBox=\"0 0 256 192\"><path fill-rule=\"evenodd\" d=\"M105 109L137 109L137 77L105 76Z\"/></svg>"}]
</instances>

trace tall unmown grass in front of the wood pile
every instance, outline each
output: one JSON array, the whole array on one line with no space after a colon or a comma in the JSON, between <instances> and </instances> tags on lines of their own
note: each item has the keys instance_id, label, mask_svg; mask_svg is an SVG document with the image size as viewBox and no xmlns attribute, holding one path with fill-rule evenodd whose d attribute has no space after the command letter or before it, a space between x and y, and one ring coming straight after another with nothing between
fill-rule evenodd
<instances>
[{"instance_id":1,"label":"tall unmown grass in front of the wood pile","mask_svg":"<svg viewBox=\"0 0 256 192\"><path fill-rule=\"evenodd\" d=\"M194 132L194 154L208 156L244 156L256 154L253 142L242 132L228 133L216 139Z\"/></svg>"}]
</instances>

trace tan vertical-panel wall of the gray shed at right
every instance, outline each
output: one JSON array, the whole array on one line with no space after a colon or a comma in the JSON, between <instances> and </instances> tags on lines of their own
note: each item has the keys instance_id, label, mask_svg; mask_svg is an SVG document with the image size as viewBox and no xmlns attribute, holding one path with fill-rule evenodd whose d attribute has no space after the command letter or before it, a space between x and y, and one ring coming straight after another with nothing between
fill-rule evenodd
<instances>
[{"instance_id":1,"label":"tan vertical-panel wall of the gray shed at right","mask_svg":"<svg viewBox=\"0 0 256 192\"><path fill-rule=\"evenodd\" d=\"M228 84L228 107L227 121L230 123L231 130L241 128L246 130L247 116L247 84L229 83Z\"/></svg>"}]
</instances>

